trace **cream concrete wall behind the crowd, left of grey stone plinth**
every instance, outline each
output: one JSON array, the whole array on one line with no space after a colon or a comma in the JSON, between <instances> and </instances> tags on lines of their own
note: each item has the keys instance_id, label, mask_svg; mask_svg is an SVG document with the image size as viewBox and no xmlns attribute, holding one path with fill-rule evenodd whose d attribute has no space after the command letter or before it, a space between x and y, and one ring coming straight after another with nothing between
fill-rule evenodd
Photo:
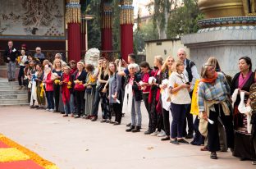
<instances>
[{"instance_id":1,"label":"cream concrete wall behind the crowd, left of grey stone plinth","mask_svg":"<svg viewBox=\"0 0 256 169\"><path fill-rule=\"evenodd\" d=\"M179 48L185 48L181 44L181 39L160 39L146 41L146 61L150 66L153 66L153 58L157 55L161 55L164 58L172 56L177 60L177 50ZM185 48L187 56L190 57L190 49ZM166 53L165 53L166 51Z\"/></svg>"}]
</instances>

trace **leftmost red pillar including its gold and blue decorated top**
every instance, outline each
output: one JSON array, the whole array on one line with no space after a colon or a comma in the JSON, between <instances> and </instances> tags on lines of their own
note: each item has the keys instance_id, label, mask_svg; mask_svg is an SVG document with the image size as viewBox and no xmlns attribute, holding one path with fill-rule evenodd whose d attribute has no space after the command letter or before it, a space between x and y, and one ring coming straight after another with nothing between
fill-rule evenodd
<instances>
[{"instance_id":1,"label":"leftmost red pillar including its gold and blue decorated top","mask_svg":"<svg viewBox=\"0 0 256 169\"><path fill-rule=\"evenodd\" d=\"M81 59L80 0L67 1L66 24L68 61L79 62Z\"/></svg>"}]
</instances>

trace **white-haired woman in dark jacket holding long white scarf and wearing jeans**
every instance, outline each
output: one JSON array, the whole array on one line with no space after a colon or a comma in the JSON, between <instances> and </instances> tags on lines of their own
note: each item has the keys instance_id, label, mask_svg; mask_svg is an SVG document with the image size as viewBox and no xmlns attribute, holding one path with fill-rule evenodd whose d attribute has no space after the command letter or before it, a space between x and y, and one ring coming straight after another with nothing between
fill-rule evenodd
<instances>
[{"instance_id":1,"label":"white-haired woman in dark jacket holding long white scarf and wearing jeans","mask_svg":"<svg viewBox=\"0 0 256 169\"><path fill-rule=\"evenodd\" d=\"M131 126L127 132L139 132L141 129L141 111L140 104L142 100L142 91L139 87L140 75L135 73L137 64L130 64L128 66L129 74L125 82L125 98L123 102L122 112L131 114Z\"/></svg>"}]
</instances>

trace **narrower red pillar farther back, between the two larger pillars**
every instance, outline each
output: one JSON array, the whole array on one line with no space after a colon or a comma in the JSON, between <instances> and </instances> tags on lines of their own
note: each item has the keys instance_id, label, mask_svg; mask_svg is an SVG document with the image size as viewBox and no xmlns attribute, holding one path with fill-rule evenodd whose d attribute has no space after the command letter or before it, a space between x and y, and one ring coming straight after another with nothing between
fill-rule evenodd
<instances>
[{"instance_id":1,"label":"narrower red pillar farther back, between the two larger pillars","mask_svg":"<svg viewBox=\"0 0 256 169\"><path fill-rule=\"evenodd\" d=\"M103 51L112 50L112 3L101 4L101 43Z\"/></svg>"}]
</instances>

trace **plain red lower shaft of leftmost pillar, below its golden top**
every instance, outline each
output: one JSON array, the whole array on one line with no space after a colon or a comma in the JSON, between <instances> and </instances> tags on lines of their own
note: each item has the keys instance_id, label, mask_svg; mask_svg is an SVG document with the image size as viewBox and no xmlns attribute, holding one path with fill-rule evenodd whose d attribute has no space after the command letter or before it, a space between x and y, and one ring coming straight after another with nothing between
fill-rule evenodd
<instances>
[{"instance_id":1,"label":"plain red lower shaft of leftmost pillar, below its golden top","mask_svg":"<svg viewBox=\"0 0 256 169\"><path fill-rule=\"evenodd\" d=\"M75 60L79 62L81 59L81 44L80 44L80 24L67 24L68 36L68 61Z\"/></svg>"}]
</instances>

